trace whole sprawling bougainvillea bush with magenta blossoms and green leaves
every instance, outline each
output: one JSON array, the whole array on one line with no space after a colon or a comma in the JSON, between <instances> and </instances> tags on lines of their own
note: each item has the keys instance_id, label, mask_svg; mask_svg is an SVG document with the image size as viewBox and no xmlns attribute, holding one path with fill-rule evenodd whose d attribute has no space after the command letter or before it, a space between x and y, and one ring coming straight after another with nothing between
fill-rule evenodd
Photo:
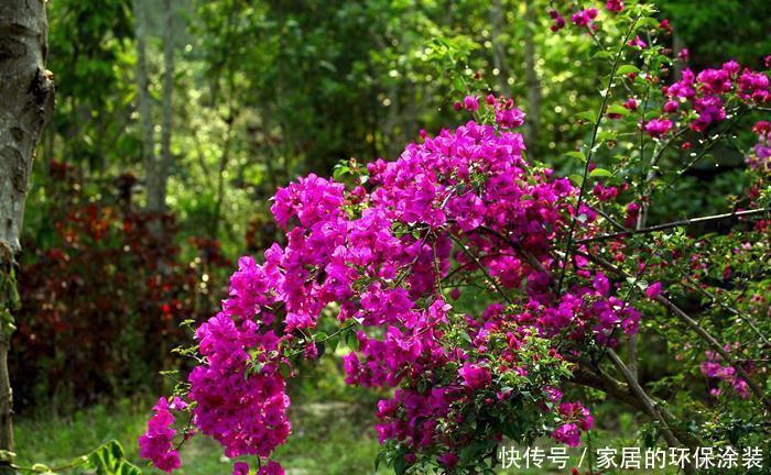
<instances>
[{"instance_id":1,"label":"whole sprawling bougainvillea bush with magenta blossoms and green leaves","mask_svg":"<svg viewBox=\"0 0 771 475\"><path fill-rule=\"evenodd\" d=\"M586 130L571 169L528 157L525 112L469 85L465 124L281 188L286 244L239 261L143 457L171 472L200 433L251 456L236 474L283 473L271 455L292 432L287 380L338 347L348 384L391 389L378 462L397 473L489 472L504 439L576 446L595 424L576 386L639 410L671 448L767 440L768 75L689 70L659 45L670 26L649 5L553 5L554 34L585 30L608 62L601 109L571 119ZM649 223L741 128L756 139L742 196L720 216ZM337 329L318 330L325 319ZM654 385L638 376L649 342L676 368Z\"/></svg>"}]
</instances>

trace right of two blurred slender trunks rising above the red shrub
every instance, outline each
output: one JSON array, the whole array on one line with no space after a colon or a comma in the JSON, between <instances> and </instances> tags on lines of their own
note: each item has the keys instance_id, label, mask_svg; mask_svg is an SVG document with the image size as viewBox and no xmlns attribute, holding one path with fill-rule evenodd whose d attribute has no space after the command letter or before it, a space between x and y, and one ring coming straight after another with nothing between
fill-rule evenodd
<instances>
[{"instance_id":1,"label":"right of two blurred slender trunks rising above the red shrub","mask_svg":"<svg viewBox=\"0 0 771 475\"><path fill-rule=\"evenodd\" d=\"M163 131L161 133L161 163L158 170L158 183L153 202L159 211L166 208L166 188L169 187L169 173L174 163L171 142L173 124L173 95L174 95L174 37L176 33L176 15L174 14L173 0L163 1L166 11L166 30L163 35Z\"/></svg>"}]
</instances>

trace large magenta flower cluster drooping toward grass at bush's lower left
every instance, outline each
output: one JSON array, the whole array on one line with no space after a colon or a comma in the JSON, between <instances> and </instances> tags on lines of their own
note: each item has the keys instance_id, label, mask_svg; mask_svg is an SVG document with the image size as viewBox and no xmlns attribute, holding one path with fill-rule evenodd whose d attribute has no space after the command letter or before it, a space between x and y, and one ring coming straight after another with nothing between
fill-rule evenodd
<instances>
[{"instance_id":1,"label":"large magenta flower cluster drooping toward grass at bush's lower left","mask_svg":"<svg viewBox=\"0 0 771 475\"><path fill-rule=\"evenodd\" d=\"M239 266L234 275L236 286L243 274L258 274L251 258L241 258ZM232 301L243 303L234 298L232 290L226 307ZM278 349L279 338L271 330L261 333L263 329L254 320L237 321L228 313L224 309L196 331L206 364L196 366L188 377L189 399L197 402L193 422L202 433L221 443L229 457L269 456L291 431L285 382L279 374L276 358L270 356ZM254 364L263 366L247 376Z\"/></svg>"}]
</instances>

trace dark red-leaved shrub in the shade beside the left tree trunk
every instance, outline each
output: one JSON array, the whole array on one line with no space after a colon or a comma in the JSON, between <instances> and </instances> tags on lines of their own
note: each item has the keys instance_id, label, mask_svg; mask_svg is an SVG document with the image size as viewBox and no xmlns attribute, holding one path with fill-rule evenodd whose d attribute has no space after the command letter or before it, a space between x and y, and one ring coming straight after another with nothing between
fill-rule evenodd
<instances>
[{"instance_id":1,"label":"dark red-leaved shrub in the shade beside the left tree trunk","mask_svg":"<svg viewBox=\"0 0 771 475\"><path fill-rule=\"evenodd\" d=\"M106 197L88 196L66 164L52 163L50 173L48 208L30 227L36 233L20 263L10 362L17 406L54 396L85 404L159 385L159 372L175 365L170 350L185 339L180 323L211 313L207 273L229 265L219 243L182 245L172 214L131 203L131 175Z\"/></svg>"}]
</instances>

